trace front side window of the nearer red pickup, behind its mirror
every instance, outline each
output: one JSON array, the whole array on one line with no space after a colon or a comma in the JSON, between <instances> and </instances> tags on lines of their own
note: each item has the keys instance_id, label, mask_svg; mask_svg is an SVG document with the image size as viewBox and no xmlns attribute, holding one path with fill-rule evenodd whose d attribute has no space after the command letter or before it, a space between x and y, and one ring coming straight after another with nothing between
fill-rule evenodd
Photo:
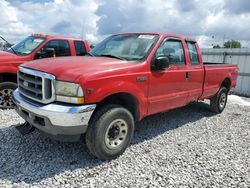
<instances>
[{"instance_id":1,"label":"front side window of the nearer red pickup, behind its mirror","mask_svg":"<svg viewBox=\"0 0 250 188\"><path fill-rule=\"evenodd\" d=\"M155 58L160 56L167 56L172 65L185 65L183 46L179 40L170 39L163 42L156 51Z\"/></svg>"}]
</instances>

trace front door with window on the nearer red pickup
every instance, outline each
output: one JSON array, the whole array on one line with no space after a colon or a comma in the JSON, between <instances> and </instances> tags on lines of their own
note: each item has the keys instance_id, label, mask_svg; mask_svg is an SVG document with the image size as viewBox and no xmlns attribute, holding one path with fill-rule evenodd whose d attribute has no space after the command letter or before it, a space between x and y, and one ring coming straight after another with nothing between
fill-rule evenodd
<instances>
[{"instance_id":1,"label":"front door with window on the nearer red pickup","mask_svg":"<svg viewBox=\"0 0 250 188\"><path fill-rule=\"evenodd\" d=\"M149 114L166 111L186 104L188 92L186 72L188 66L184 56L184 41L166 38L157 49L152 66L157 57L167 56L170 67L163 71L151 71L148 93Z\"/></svg>"}]
</instances>

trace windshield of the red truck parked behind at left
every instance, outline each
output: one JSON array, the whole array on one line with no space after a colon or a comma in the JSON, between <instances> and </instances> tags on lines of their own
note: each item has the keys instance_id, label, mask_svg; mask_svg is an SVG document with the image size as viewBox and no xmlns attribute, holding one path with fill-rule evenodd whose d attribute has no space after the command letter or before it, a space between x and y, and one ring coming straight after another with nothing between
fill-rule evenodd
<instances>
[{"instance_id":1,"label":"windshield of the red truck parked behind at left","mask_svg":"<svg viewBox=\"0 0 250 188\"><path fill-rule=\"evenodd\" d=\"M18 55L28 55L33 52L44 40L45 38L43 37L30 36L14 45L12 48ZM8 51L12 52L11 49Z\"/></svg>"}]
</instances>

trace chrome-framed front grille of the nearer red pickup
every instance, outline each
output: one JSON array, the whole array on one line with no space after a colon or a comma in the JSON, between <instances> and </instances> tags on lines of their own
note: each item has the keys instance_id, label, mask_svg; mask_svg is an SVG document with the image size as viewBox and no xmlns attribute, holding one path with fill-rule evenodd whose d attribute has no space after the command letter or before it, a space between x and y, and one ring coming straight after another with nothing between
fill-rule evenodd
<instances>
[{"instance_id":1,"label":"chrome-framed front grille of the nearer red pickup","mask_svg":"<svg viewBox=\"0 0 250 188\"><path fill-rule=\"evenodd\" d=\"M47 104L55 100L54 80L51 74L20 67L18 89L23 96Z\"/></svg>"}]
</instances>

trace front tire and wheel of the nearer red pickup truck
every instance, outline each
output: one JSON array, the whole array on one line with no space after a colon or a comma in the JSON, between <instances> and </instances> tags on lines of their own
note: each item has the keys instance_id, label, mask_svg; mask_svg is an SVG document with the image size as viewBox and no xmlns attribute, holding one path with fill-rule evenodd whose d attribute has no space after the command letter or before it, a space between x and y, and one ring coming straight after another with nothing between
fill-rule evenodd
<instances>
[{"instance_id":1,"label":"front tire and wheel of the nearer red pickup truck","mask_svg":"<svg viewBox=\"0 0 250 188\"><path fill-rule=\"evenodd\" d=\"M108 105L95 112L86 132L86 145L101 160L121 155L134 134L132 114L119 105Z\"/></svg>"}]
</instances>

